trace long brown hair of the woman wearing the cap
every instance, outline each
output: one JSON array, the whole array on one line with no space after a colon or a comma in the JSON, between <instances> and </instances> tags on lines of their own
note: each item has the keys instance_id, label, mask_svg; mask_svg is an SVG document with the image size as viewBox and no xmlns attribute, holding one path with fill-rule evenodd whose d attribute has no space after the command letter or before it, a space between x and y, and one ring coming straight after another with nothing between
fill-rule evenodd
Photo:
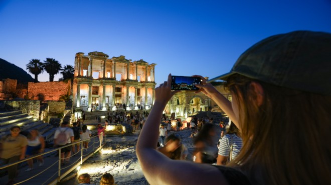
<instances>
[{"instance_id":1,"label":"long brown hair of the woman wearing the cap","mask_svg":"<svg viewBox=\"0 0 331 185\"><path fill-rule=\"evenodd\" d=\"M234 74L225 87L240 109L243 147L229 165L253 184L322 184L331 174L331 96L272 85ZM261 84L256 103L251 82ZM238 165L237 163L240 163Z\"/></svg>"}]
</instances>

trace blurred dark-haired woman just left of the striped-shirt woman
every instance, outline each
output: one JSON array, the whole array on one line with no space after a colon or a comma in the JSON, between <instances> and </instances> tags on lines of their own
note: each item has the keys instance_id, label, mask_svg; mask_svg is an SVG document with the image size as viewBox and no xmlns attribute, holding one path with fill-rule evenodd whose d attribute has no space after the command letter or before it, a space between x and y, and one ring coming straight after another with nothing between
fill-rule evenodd
<instances>
[{"instance_id":1,"label":"blurred dark-haired woman just left of the striped-shirt woman","mask_svg":"<svg viewBox=\"0 0 331 185\"><path fill-rule=\"evenodd\" d=\"M216 135L215 126L206 123L197 137L194 138L194 157L193 161L198 163L214 163L217 158L217 144L214 142Z\"/></svg>"}]
</instances>

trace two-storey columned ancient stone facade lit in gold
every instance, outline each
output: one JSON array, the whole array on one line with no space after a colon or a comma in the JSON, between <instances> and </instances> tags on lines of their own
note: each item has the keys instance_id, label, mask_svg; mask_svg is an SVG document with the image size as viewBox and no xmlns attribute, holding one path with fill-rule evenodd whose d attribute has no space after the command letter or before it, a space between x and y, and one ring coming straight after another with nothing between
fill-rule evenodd
<instances>
[{"instance_id":1,"label":"two-storey columned ancient stone facade lit in gold","mask_svg":"<svg viewBox=\"0 0 331 185\"><path fill-rule=\"evenodd\" d=\"M92 103L100 109L115 109L125 103L127 109L154 102L155 63L140 59L131 62L125 56L108 58L103 52L76 53L73 84L74 107L90 110Z\"/></svg>"}]
</instances>

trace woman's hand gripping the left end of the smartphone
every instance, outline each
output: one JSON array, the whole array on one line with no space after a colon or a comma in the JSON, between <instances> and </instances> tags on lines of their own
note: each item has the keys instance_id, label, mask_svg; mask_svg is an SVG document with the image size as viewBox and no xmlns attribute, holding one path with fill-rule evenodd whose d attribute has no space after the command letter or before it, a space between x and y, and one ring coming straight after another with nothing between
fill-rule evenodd
<instances>
[{"instance_id":1,"label":"woman's hand gripping the left end of the smartphone","mask_svg":"<svg viewBox=\"0 0 331 185\"><path fill-rule=\"evenodd\" d=\"M180 90L171 91L172 75L168 75L168 81L164 81L155 88L155 103L167 104L170 98Z\"/></svg>"}]
</instances>

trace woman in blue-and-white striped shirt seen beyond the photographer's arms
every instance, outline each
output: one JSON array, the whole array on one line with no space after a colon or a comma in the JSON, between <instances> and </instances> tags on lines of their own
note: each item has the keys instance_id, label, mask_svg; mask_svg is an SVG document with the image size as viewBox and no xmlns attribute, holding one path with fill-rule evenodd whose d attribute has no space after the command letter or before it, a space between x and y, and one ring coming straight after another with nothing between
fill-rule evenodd
<instances>
[{"instance_id":1,"label":"woman in blue-and-white striped shirt seen beyond the photographer's arms","mask_svg":"<svg viewBox=\"0 0 331 185\"><path fill-rule=\"evenodd\" d=\"M225 135L220 138L217 164L225 165L237 157L242 147L240 131L235 124L231 124Z\"/></svg>"}]
</instances>

